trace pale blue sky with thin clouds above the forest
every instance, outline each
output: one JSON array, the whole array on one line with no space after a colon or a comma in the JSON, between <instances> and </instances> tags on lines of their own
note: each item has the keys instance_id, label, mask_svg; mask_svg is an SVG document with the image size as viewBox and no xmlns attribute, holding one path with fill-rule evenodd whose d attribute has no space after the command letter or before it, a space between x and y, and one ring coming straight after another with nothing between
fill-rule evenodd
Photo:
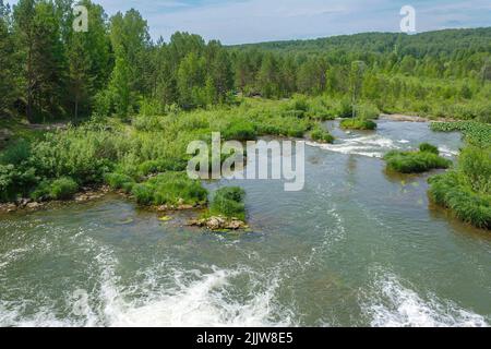
<instances>
[{"instance_id":1,"label":"pale blue sky with thin clouds above the forest","mask_svg":"<svg viewBox=\"0 0 491 349\"><path fill-rule=\"evenodd\" d=\"M400 31L403 5L417 32L491 26L491 0L93 0L108 14L139 10L152 37L177 31L227 45ZM8 2L15 2L10 0Z\"/></svg>"}]
</instances>

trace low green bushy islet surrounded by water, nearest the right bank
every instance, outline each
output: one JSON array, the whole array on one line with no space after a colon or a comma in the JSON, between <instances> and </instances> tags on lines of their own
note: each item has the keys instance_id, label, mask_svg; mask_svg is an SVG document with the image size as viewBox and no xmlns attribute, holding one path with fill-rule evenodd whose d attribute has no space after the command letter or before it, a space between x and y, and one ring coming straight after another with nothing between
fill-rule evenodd
<instances>
[{"instance_id":1,"label":"low green bushy islet surrounded by water, nearest the right bank","mask_svg":"<svg viewBox=\"0 0 491 349\"><path fill-rule=\"evenodd\" d=\"M452 165L436 154L429 152L397 152L385 155L387 169L399 173L422 173L431 169L446 169Z\"/></svg>"}]
</instances>

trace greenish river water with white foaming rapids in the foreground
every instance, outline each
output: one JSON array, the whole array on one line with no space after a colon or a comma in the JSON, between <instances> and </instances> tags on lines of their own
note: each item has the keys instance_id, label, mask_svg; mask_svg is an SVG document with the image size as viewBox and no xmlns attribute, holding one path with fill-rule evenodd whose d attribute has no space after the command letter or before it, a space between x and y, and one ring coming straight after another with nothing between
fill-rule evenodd
<instances>
[{"instance_id":1,"label":"greenish river water with white foaming rapids in the foreground","mask_svg":"<svg viewBox=\"0 0 491 349\"><path fill-rule=\"evenodd\" d=\"M488 326L491 234L380 158L458 133L379 121L309 144L307 183L241 185L252 231L170 222L118 196L0 216L0 326Z\"/></svg>"}]
</instances>

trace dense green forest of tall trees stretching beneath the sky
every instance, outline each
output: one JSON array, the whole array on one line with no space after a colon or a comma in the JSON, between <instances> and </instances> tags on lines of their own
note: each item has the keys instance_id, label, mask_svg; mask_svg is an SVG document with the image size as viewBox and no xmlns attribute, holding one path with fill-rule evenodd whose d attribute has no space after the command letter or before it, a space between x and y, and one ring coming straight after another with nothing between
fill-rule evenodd
<instances>
[{"instance_id":1,"label":"dense green forest of tall trees stretching beneath the sky","mask_svg":"<svg viewBox=\"0 0 491 349\"><path fill-rule=\"evenodd\" d=\"M352 96L386 112L490 120L491 28L369 33L225 47L176 33L154 41L136 10L109 17L89 0L0 0L0 115L29 122L164 113L238 95ZM357 74L358 76L358 74Z\"/></svg>"}]
</instances>

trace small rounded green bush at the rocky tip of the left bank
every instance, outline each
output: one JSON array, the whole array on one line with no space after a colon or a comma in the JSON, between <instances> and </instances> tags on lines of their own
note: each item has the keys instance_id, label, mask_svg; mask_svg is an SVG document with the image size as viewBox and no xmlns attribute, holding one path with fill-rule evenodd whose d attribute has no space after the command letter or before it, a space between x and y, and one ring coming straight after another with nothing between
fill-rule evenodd
<instances>
[{"instance_id":1,"label":"small rounded green bush at the rocky tip of the left bank","mask_svg":"<svg viewBox=\"0 0 491 349\"><path fill-rule=\"evenodd\" d=\"M246 220L246 192L238 186L221 188L214 194L209 206L212 215Z\"/></svg>"}]
</instances>

